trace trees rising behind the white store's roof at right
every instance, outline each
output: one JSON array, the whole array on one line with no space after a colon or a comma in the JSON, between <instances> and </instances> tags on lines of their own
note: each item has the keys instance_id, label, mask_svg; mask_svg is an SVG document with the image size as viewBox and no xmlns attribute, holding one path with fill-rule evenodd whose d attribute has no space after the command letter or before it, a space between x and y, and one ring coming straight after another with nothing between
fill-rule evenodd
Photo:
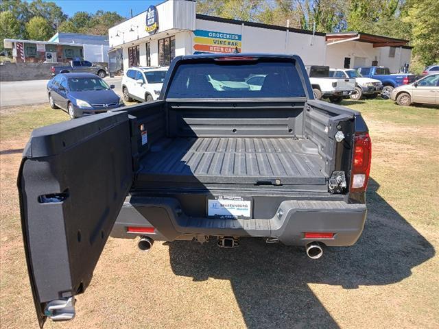
<instances>
[{"instance_id":1,"label":"trees rising behind the white store's roof at right","mask_svg":"<svg viewBox=\"0 0 439 329\"><path fill-rule=\"evenodd\" d=\"M198 0L197 8L228 19L410 40L411 71L439 63L439 0Z\"/></svg>"}]
</instances>

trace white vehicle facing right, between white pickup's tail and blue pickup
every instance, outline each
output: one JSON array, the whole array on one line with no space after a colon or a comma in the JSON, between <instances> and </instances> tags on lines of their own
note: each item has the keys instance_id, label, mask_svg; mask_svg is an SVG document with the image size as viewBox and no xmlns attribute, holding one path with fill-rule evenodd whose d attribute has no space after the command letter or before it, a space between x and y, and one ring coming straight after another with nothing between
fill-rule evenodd
<instances>
[{"instance_id":1,"label":"white vehicle facing right, between white pickup's tail and blue pickup","mask_svg":"<svg viewBox=\"0 0 439 329\"><path fill-rule=\"evenodd\" d=\"M329 75L331 77L355 79L355 93L350 96L353 101L359 101L361 98L375 98L383 90L383 83L381 81L370 77L363 77L363 75L352 69L330 69Z\"/></svg>"}]
</instances>

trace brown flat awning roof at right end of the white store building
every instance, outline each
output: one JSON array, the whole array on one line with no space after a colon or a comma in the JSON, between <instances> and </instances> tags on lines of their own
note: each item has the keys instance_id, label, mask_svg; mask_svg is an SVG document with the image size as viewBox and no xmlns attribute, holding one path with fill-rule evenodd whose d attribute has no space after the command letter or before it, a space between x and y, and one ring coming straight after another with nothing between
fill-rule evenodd
<instances>
[{"instance_id":1,"label":"brown flat awning roof at right end of the white store building","mask_svg":"<svg viewBox=\"0 0 439 329\"><path fill-rule=\"evenodd\" d=\"M401 47L406 46L409 41L403 39L390 38L388 36L376 36L362 32L338 32L327 33L327 45L334 45L340 42L359 41L372 43L374 48L378 47Z\"/></svg>"}]
</instances>

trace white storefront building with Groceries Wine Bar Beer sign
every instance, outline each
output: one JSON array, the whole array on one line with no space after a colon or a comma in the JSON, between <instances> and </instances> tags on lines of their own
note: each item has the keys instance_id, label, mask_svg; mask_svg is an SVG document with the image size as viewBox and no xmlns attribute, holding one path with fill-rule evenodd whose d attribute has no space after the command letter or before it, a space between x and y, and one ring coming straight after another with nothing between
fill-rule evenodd
<instances>
[{"instance_id":1,"label":"white storefront building with Groceries Wine Bar Beer sign","mask_svg":"<svg viewBox=\"0 0 439 329\"><path fill-rule=\"evenodd\" d=\"M122 63L118 67L123 71L130 66L168 66L175 56L234 51L296 53L306 65L327 64L337 68L343 67L345 57L352 57L353 68L355 47L364 44L364 40L351 40L342 46L329 46L333 39L327 39L322 32L196 14L193 0L168 0L145 9L108 30L110 48L121 50ZM361 54L366 64L371 65L370 58L375 60L377 49L372 45L365 51L367 56L364 51ZM377 57L378 62L392 64L388 56ZM397 68L393 66L391 71L399 69L399 64Z\"/></svg>"}]
</instances>

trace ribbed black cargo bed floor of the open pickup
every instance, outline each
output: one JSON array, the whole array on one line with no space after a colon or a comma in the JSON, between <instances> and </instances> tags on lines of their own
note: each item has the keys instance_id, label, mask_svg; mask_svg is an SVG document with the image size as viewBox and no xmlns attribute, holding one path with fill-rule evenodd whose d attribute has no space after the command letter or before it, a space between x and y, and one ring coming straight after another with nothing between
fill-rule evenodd
<instances>
[{"instance_id":1,"label":"ribbed black cargo bed floor of the open pickup","mask_svg":"<svg viewBox=\"0 0 439 329\"><path fill-rule=\"evenodd\" d=\"M138 182L326 184L316 145L297 138L163 138Z\"/></svg>"}]
</instances>

